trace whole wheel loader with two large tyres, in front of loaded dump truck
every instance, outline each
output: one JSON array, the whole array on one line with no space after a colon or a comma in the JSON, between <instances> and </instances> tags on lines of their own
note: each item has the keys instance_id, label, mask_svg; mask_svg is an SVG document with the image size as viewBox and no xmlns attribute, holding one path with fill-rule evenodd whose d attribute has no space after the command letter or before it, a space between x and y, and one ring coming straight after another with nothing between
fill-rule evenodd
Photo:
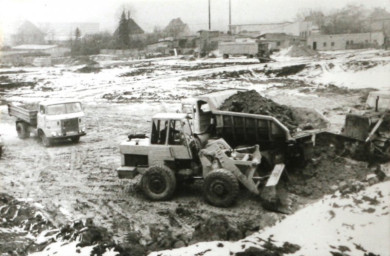
<instances>
[{"instance_id":1,"label":"whole wheel loader with two large tyres, in front of loaded dump truck","mask_svg":"<svg viewBox=\"0 0 390 256\"><path fill-rule=\"evenodd\" d=\"M121 167L118 177L142 175L141 189L151 200L172 197L177 183L203 179L204 196L212 205L234 203L243 185L256 195L261 185L274 187L284 164L260 176L260 146L233 150L222 138L209 139L201 146L194 139L191 117L184 113L161 113L152 118L150 136L129 135L120 144Z\"/></svg>"}]
</instances>

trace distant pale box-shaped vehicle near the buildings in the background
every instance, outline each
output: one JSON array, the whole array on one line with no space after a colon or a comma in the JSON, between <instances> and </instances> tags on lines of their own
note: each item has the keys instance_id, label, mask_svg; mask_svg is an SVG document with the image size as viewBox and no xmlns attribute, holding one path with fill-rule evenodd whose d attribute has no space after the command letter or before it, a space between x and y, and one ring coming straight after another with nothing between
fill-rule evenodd
<instances>
[{"instance_id":1,"label":"distant pale box-shaped vehicle near the buildings in the background","mask_svg":"<svg viewBox=\"0 0 390 256\"><path fill-rule=\"evenodd\" d=\"M256 57L262 63L271 61L268 44L263 42L220 42L218 49L225 59L230 56L247 56Z\"/></svg>"}]
</instances>

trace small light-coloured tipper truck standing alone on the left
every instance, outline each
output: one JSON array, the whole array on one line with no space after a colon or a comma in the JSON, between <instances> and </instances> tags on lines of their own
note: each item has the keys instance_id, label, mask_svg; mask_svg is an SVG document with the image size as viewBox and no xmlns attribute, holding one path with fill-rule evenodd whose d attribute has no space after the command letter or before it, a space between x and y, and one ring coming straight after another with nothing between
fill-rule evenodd
<instances>
[{"instance_id":1,"label":"small light-coloured tipper truck standing alone on the left","mask_svg":"<svg viewBox=\"0 0 390 256\"><path fill-rule=\"evenodd\" d=\"M54 141L70 139L77 143L86 135L84 112L78 101L43 101L39 104L8 104L8 114L16 117L16 131L20 139L31 133L41 139L45 147Z\"/></svg>"}]
</instances>

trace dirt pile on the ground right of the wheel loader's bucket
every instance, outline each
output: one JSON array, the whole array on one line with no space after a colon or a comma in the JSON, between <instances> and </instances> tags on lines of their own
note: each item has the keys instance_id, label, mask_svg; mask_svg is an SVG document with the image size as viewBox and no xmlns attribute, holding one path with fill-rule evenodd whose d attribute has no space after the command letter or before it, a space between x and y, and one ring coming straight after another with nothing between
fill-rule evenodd
<instances>
[{"instance_id":1,"label":"dirt pile on the ground right of the wheel loader's bucket","mask_svg":"<svg viewBox=\"0 0 390 256\"><path fill-rule=\"evenodd\" d=\"M375 175L375 170L366 162L339 155L329 135L317 137L312 161L288 173L285 187L289 192L317 199L336 190L359 191L367 175Z\"/></svg>"}]
</instances>

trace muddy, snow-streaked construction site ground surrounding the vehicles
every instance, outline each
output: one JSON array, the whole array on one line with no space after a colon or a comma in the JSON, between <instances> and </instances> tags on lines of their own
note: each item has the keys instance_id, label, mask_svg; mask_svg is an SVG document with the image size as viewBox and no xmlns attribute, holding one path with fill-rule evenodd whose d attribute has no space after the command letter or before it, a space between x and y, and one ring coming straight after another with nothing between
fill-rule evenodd
<instances>
[{"instance_id":1,"label":"muddy, snow-streaked construction site ground surrounding the vehicles","mask_svg":"<svg viewBox=\"0 0 390 256\"><path fill-rule=\"evenodd\" d=\"M148 133L151 116L180 110L181 99L226 89L256 90L279 104L316 109L329 121L328 130L339 131L345 114L361 109L369 91L389 90L390 85L390 52L382 50L279 56L267 64L246 58L94 59L98 64L85 66L80 59L56 67L0 69L0 134L5 143L0 159L0 237L12 237L0 242L0 253L27 255L60 238L71 244L63 228L87 219L104 230L99 232L107 239L100 234L102 239L84 246L90 246L85 247L90 252L99 244L98 252L105 255L115 255L115 248L121 248L117 252L122 250L122 255L126 248L133 250L128 255L144 255L200 241L242 239L289 215L264 210L259 198L245 190L233 207L210 206L201 196L201 182L179 186L170 201L151 202L139 190L139 177L118 179L120 142L130 133ZM6 103L46 99L84 104L87 135L78 144L60 142L45 148L34 137L18 139ZM336 155L326 143L318 145L315 159L288 170L289 179L279 186L291 213L365 182L374 173L365 162ZM24 207L33 210L19 210ZM6 209L14 210L11 214ZM37 218L36 212L41 216L36 221L43 218L46 224L35 232L26 230L23 220ZM208 225L223 230L212 236ZM42 232L50 230L56 239L42 240ZM40 246L32 246L36 244ZM83 252L82 246L77 248L73 249Z\"/></svg>"}]
</instances>

